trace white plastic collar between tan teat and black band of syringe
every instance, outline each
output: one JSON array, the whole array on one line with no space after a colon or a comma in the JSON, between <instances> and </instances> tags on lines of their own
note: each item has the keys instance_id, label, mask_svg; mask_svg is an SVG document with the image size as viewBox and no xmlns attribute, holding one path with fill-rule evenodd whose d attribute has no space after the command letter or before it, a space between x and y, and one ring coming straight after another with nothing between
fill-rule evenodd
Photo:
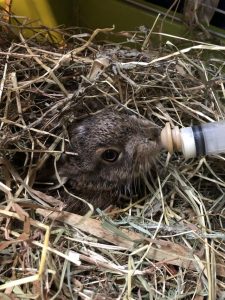
<instances>
[{"instance_id":1,"label":"white plastic collar between tan teat and black band of syringe","mask_svg":"<svg viewBox=\"0 0 225 300\"><path fill-rule=\"evenodd\" d=\"M191 127L185 127L180 129L182 140L182 152L186 159L196 157L196 147L193 131Z\"/></svg>"}]
</instances>

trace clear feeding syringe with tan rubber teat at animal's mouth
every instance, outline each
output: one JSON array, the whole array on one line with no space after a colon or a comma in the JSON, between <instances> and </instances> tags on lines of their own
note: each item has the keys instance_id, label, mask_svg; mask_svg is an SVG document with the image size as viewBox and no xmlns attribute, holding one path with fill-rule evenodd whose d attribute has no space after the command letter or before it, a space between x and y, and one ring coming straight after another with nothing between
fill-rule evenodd
<instances>
[{"instance_id":1,"label":"clear feeding syringe with tan rubber teat at animal's mouth","mask_svg":"<svg viewBox=\"0 0 225 300\"><path fill-rule=\"evenodd\" d=\"M225 121L171 129L167 123L161 142L170 152L181 151L186 159L199 155L225 153Z\"/></svg>"}]
</instances>

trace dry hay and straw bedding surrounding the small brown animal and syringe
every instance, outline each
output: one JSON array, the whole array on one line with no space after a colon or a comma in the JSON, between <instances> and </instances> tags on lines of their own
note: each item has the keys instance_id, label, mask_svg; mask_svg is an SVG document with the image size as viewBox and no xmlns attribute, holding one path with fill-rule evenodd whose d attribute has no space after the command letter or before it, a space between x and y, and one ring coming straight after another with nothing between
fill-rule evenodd
<instances>
[{"instance_id":1,"label":"dry hay and straw bedding surrounding the small brown animal and syringe","mask_svg":"<svg viewBox=\"0 0 225 300\"><path fill-rule=\"evenodd\" d=\"M59 47L46 29L13 30L0 34L1 295L224 299L224 156L163 152L144 198L94 217L63 211L34 182L80 103L125 106L161 127L222 120L225 47L166 37L149 50L145 28L119 43L96 39L112 29L61 32Z\"/></svg>"}]
</instances>

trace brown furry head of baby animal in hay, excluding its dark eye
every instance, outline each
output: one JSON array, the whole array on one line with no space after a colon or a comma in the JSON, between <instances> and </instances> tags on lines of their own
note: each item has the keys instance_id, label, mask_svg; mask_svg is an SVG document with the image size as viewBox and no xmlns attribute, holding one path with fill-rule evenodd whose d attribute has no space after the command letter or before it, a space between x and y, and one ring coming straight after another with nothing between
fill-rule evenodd
<instances>
[{"instance_id":1,"label":"brown furry head of baby animal in hay, excluding its dark eye","mask_svg":"<svg viewBox=\"0 0 225 300\"><path fill-rule=\"evenodd\" d=\"M58 163L60 177L66 177L67 189L82 197L95 208L116 204L122 191L129 190L132 182L150 170L161 146L159 128L148 120L105 109L68 128L69 145ZM113 149L119 157L105 161L102 153ZM111 151L111 150L110 150ZM63 193L69 209L85 213L88 206Z\"/></svg>"}]
</instances>

